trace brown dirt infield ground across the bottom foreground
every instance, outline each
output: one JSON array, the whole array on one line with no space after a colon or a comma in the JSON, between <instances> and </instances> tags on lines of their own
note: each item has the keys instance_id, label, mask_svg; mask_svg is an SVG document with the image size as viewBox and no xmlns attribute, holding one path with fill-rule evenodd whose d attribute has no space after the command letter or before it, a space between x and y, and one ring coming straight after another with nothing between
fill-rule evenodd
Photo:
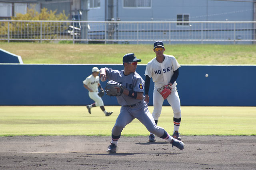
<instances>
[{"instance_id":1,"label":"brown dirt infield ground across the bottom foreground","mask_svg":"<svg viewBox=\"0 0 256 170\"><path fill-rule=\"evenodd\" d=\"M110 137L0 137L0 169L239 169L256 168L256 136L182 136L185 149L157 138L121 137L116 154Z\"/></svg>"}]
</instances>

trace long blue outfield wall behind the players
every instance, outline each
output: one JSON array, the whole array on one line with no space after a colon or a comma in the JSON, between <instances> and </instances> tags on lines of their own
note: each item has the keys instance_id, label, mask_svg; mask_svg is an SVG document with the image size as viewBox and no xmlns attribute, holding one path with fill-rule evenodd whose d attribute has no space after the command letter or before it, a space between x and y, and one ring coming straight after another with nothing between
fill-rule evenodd
<instances>
[{"instance_id":1,"label":"long blue outfield wall behind the players","mask_svg":"<svg viewBox=\"0 0 256 170\"><path fill-rule=\"evenodd\" d=\"M91 104L82 81L94 66L123 69L122 65L0 64L0 105ZM145 68L137 67L142 78ZM256 106L256 65L182 65L179 72L177 89L182 106ZM106 84L100 83L103 87ZM151 80L149 105L153 104L153 88ZM104 105L118 105L115 97L104 96L103 100Z\"/></svg>"}]
</instances>

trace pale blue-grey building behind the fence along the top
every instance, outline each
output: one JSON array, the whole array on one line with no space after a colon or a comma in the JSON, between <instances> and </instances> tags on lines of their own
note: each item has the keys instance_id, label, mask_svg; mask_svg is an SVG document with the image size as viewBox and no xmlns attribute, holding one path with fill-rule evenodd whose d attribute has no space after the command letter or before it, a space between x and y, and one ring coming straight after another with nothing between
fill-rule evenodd
<instances>
[{"instance_id":1,"label":"pale blue-grey building behind the fence along the top","mask_svg":"<svg viewBox=\"0 0 256 170\"><path fill-rule=\"evenodd\" d=\"M0 19L10 19L16 13L26 14L27 8L32 8L32 6L35 6L38 12L42 8L57 10L56 14L64 10L65 14L69 16L68 20L187 21L185 23L177 22L173 29L188 30L187 33L193 29L198 32L196 36L201 34L200 27L197 26L194 29L195 24L191 25L189 21L256 21L256 0L0 0ZM238 28L240 32L236 35L236 39L248 39L251 35L254 36L253 39L256 39L256 24L253 24L249 29ZM158 26L161 27L161 24ZM89 25L86 23L81 27L82 39L87 39L88 36L89 39L97 39L97 37L104 39L106 31L104 31L103 24ZM223 29L217 24L207 25L206 23L204 27L206 37L208 37L208 28L211 29L210 31L222 31ZM130 36L129 31L136 32L134 28L127 27L125 29L127 33L124 33L123 37ZM143 25L140 29L146 30L148 33L153 30ZM168 27L162 26L162 29L168 30ZM225 34L229 36L227 39L232 39L234 26L228 25L224 29ZM117 23L108 24L107 32L106 36L121 39ZM158 30L156 30L157 32ZM187 36L184 32L182 34Z\"/></svg>"}]
</instances>

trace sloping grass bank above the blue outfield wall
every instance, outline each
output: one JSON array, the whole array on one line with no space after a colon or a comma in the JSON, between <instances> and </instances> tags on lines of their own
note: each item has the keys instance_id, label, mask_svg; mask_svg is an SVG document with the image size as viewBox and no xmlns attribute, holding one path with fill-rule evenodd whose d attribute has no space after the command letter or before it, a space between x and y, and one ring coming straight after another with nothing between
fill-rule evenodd
<instances>
[{"instance_id":1,"label":"sloping grass bank above the blue outfield wall","mask_svg":"<svg viewBox=\"0 0 256 170\"><path fill-rule=\"evenodd\" d=\"M20 55L24 63L121 64L126 53L135 53L147 64L155 57L153 45L6 43L0 48ZM180 64L256 64L256 45L164 45L165 54Z\"/></svg>"}]
</instances>

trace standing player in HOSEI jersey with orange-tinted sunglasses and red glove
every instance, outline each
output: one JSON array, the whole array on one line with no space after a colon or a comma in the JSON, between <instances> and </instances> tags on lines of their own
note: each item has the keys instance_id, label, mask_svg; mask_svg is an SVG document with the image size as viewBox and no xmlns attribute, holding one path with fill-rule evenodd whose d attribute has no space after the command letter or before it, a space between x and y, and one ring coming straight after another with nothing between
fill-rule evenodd
<instances>
[{"instance_id":1,"label":"standing player in HOSEI jersey with orange-tinted sunglasses and red glove","mask_svg":"<svg viewBox=\"0 0 256 170\"><path fill-rule=\"evenodd\" d=\"M149 101L148 91L150 85L150 78L153 79L155 84L153 92L153 105L154 110L152 116L156 124L158 123L158 118L160 117L162 111L162 104L165 99L167 99L170 106L173 110L173 123L174 123L174 132L172 137L175 139L181 140L179 127L181 121L181 109L180 109L180 98L176 88L176 79L179 75L180 64L172 55L164 55L164 43L162 41L154 42L154 52L156 57L148 62L145 71L145 101ZM169 92L167 96L160 94L159 88L167 87ZM150 133L149 141L156 141L154 134Z\"/></svg>"}]
</instances>

